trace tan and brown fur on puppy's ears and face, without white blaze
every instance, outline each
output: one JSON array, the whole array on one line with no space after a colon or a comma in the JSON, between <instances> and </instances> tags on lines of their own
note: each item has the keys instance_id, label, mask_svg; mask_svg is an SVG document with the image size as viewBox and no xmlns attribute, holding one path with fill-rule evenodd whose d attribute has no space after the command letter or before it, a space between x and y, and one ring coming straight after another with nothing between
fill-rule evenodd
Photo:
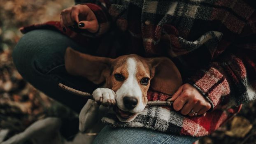
<instances>
[{"instance_id":1,"label":"tan and brown fur on puppy's ears and face, without white blaze","mask_svg":"<svg viewBox=\"0 0 256 144\"><path fill-rule=\"evenodd\" d=\"M114 73L121 73L128 77L126 70L126 59L135 58L137 62L137 79L149 77L151 88L155 91L172 95L182 84L182 78L175 64L165 57L161 58L142 58L138 55L131 54L120 56L116 59L91 56L80 53L71 48L67 48L65 53L65 67L67 72L72 75L86 77L95 84L106 81L107 88L116 91L122 85L122 82L114 80ZM113 69L111 74L111 68ZM149 75L151 73L151 75ZM147 94L147 87L141 86L143 95Z\"/></svg>"}]
</instances>

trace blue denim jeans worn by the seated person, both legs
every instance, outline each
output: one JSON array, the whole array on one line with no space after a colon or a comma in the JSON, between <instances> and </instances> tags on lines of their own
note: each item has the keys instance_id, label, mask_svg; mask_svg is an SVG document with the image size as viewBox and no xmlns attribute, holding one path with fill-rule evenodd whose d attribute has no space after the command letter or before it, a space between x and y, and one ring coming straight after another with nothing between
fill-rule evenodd
<instances>
[{"instance_id":1,"label":"blue denim jeans worn by the seated person, both legs","mask_svg":"<svg viewBox=\"0 0 256 144\"><path fill-rule=\"evenodd\" d=\"M92 92L97 85L87 79L68 74L64 53L70 46L77 51L95 54L93 46L84 48L72 39L53 30L33 30L26 33L13 51L17 70L35 88L78 112L86 99L58 88L58 83ZM111 128L105 126L95 138L95 144L191 144L198 138L178 136L142 128Z\"/></svg>"}]
</instances>

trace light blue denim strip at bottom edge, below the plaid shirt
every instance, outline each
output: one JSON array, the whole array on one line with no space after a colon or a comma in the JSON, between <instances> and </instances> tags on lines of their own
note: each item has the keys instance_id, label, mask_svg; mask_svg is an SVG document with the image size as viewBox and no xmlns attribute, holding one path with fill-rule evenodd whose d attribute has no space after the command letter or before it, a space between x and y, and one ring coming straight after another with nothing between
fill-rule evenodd
<instances>
[{"instance_id":1,"label":"light blue denim strip at bottom edge, below the plaid shirt","mask_svg":"<svg viewBox=\"0 0 256 144\"><path fill-rule=\"evenodd\" d=\"M192 144L199 138L170 135L144 128L112 128L105 126L93 144Z\"/></svg>"}]
</instances>

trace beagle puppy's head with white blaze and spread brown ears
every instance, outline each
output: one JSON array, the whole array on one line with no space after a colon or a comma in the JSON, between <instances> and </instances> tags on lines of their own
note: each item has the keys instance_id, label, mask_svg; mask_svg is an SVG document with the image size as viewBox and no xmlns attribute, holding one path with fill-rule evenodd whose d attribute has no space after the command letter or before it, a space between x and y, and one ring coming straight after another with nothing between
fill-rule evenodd
<instances>
[{"instance_id":1,"label":"beagle puppy's head with white blaze and spread brown ears","mask_svg":"<svg viewBox=\"0 0 256 144\"><path fill-rule=\"evenodd\" d=\"M149 86L154 91L173 94L182 84L177 67L169 58L142 58L135 54L116 59L91 56L67 48L65 67L73 75L95 84L106 81L116 93L114 111L119 121L130 122L147 105Z\"/></svg>"}]
</instances>

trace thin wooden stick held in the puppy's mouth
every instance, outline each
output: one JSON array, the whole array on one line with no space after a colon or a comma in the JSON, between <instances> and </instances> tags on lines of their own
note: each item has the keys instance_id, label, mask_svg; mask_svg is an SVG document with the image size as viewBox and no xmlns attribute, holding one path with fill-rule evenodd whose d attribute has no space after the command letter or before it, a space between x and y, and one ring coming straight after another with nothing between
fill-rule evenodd
<instances>
[{"instance_id":1,"label":"thin wooden stick held in the puppy's mouth","mask_svg":"<svg viewBox=\"0 0 256 144\"><path fill-rule=\"evenodd\" d=\"M82 96L82 97L85 97L85 98L88 98L88 99L91 99L91 100L94 100L93 99L93 95L91 95L90 93L86 93L86 92L82 92L82 91L78 91L74 88L70 88L68 86L65 86L64 84L58 84L58 86L63 89L64 91L67 91L67 92L70 92L74 95L79 95L79 96ZM172 101L160 101L160 100L155 100L155 101L149 101L147 102L147 105L149 106L152 106L152 105L165 105L165 106L171 106L173 104Z\"/></svg>"}]
</instances>

